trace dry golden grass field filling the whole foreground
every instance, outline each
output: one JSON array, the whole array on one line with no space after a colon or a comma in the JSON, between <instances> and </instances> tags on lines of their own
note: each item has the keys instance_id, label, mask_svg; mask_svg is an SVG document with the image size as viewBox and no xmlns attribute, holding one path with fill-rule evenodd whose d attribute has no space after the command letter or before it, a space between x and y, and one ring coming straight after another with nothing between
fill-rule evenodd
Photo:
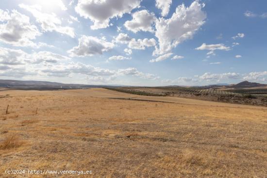
<instances>
[{"instance_id":1,"label":"dry golden grass field filling the whole foreground","mask_svg":"<svg viewBox=\"0 0 267 178\"><path fill-rule=\"evenodd\" d=\"M91 170L79 176L91 178L266 178L267 107L105 89L1 91L0 177L78 177L6 169Z\"/></svg>"}]
</instances>

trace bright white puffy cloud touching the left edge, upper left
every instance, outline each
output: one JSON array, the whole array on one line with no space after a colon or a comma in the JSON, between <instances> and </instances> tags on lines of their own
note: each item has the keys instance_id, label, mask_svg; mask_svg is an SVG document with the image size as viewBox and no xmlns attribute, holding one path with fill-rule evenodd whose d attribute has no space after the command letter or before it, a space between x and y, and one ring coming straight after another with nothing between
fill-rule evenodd
<instances>
[{"instance_id":1,"label":"bright white puffy cloud touching the left edge, upper left","mask_svg":"<svg viewBox=\"0 0 267 178\"><path fill-rule=\"evenodd\" d=\"M32 41L41 35L37 27L30 23L28 16L18 13L16 10L0 11L0 41L14 46L36 47Z\"/></svg>"}]
</instances>

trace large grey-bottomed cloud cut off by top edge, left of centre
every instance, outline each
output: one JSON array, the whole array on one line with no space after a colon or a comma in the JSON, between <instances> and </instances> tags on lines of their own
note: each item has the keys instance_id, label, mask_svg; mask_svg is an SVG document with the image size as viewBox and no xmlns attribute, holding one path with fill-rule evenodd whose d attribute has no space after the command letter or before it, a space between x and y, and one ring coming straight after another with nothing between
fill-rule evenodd
<instances>
[{"instance_id":1,"label":"large grey-bottomed cloud cut off by top edge, left of centre","mask_svg":"<svg viewBox=\"0 0 267 178\"><path fill-rule=\"evenodd\" d=\"M140 0L79 0L75 11L94 22L91 29L109 27L109 20L140 6Z\"/></svg>"}]
</instances>

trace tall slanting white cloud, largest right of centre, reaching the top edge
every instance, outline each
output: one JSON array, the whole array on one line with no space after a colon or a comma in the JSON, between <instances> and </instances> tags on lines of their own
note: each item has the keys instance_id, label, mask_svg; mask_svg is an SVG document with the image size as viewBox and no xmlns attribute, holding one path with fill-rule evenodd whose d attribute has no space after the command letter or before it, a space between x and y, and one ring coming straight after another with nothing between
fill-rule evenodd
<instances>
[{"instance_id":1,"label":"tall slanting white cloud, largest right of centre, reaching the top edge","mask_svg":"<svg viewBox=\"0 0 267 178\"><path fill-rule=\"evenodd\" d=\"M206 14L202 11L203 6L195 0L189 7L179 5L169 19L161 17L156 20L155 36L158 38L159 47L156 47L153 55L170 52L179 43L192 38L205 23Z\"/></svg>"}]
</instances>

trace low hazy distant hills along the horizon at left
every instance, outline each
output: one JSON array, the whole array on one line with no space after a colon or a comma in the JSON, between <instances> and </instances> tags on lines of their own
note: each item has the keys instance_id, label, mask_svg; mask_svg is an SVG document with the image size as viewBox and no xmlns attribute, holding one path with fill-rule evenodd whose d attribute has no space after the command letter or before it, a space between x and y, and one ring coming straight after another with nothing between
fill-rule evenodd
<instances>
[{"instance_id":1,"label":"low hazy distant hills along the horizon at left","mask_svg":"<svg viewBox=\"0 0 267 178\"><path fill-rule=\"evenodd\" d=\"M118 85L86 85L86 84L69 84L50 81L17 81L17 80L0 80L0 87L21 90L59 90L59 89L83 89L83 88L100 88L115 87Z\"/></svg>"}]
</instances>

